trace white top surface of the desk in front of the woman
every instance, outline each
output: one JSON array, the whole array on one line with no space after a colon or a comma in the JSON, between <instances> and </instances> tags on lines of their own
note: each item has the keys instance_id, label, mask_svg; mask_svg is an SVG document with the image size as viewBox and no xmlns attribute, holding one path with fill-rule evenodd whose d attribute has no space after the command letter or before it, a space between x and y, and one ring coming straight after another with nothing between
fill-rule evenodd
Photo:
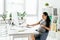
<instances>
[{"instance_id":1,"label":"white top surface of the desk in front of the woman","mask_svg":"<svg viewBox=\"0 0 60 40\"><path fill-rule=\"evenodd\" d=\"M8 34L39 34L39 32L35 31L34 28L27 28L27 27L10 27L8 29Z\"/></svg>"}]
</instances>

